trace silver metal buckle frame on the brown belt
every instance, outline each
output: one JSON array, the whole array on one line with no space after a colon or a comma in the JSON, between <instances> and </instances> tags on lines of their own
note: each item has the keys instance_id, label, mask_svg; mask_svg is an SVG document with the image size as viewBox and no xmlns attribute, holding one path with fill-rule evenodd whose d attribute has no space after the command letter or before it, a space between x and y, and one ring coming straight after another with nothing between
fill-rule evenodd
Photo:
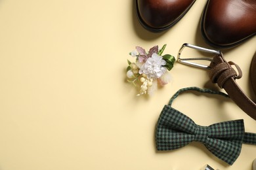
<instances>
[{"instance_id":1,"label":"silver metal buckle frame on the brown belt","mask_svg":"<svg viewBox=\"0 0 256 170\"><path fill-rule=\"evenodd\" d=\"M217 54L219 56L223 56L223 54L220 50L211 50L211 49L208 49L208 48L203 48L201 46L195 46L195 45L192 45L192 44L184 43L184 44L182 44L182 46L179 50L178 61L180 63L186 64L186 65L191 65L193 67L198 67L198 68L202 68L202 69L210 69L209 65L203 65L203 64L200 64L200 63L192 62L192 61L193 60L206 60L206 61L211 61L212 62L213 59L211 59L211 58L181 58L181 52L185 47L193 48L193 49L199 50L201 52L207 52L207 53L210 53L210 54Z\"/></svg>"}]
</instances>

